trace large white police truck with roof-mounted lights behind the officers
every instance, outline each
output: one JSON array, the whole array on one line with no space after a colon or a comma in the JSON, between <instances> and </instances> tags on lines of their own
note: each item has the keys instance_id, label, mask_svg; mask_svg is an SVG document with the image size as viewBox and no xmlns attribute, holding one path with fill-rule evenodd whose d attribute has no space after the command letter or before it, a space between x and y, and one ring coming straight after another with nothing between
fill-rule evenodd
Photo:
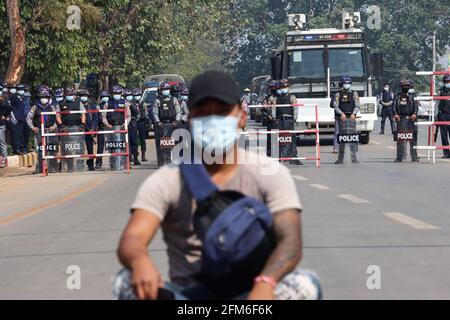
<instances>
[{"instance_id":1,"label":"large white police truck with roof-mounted lights behind the officers","mask_svg":"<svg viewBox=\"0 0 450 320\"><path fill-rule=\"evenodd\" d=\"M288 16L290 30L284 45L272 56L272 78L288 79L290 92L300 103L296 129L315 129L315 108L319 107L319 128L322 134L334 132L334 110L331 97L339 90L340 78L352 78L352 89L360 96L361 112L358 130L361 143L370 141L370 132L377 120L377 97L372 91L372 76L383 73L382 54L370 54L365 34L355 28L360 14L344 13L342 29L303 30L304 15Z\"/></svg>"}]
</instances>

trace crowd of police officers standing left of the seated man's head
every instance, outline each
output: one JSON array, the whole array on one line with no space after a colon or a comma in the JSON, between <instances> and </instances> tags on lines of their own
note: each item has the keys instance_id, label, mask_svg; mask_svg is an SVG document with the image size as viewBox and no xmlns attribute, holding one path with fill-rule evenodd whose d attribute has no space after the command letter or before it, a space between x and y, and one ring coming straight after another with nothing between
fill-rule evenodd
<instances>
[{"instance_id":1,"label":"crowd of police officers standing left of the seated man's head","mask_svg":"<svg viewBox=\"0 0 450 320\"><path fill-rule=\"evenodd\" d=\"M36 88L36 98L32 99L30 88L27 85L0 84L0 157L1 167L6 165L7 145L6 130L11 137L13 154L22 155L29 152L28 142L34 134L35 146L38 151L38 163L35 173L41 173L42 164L42 137L41 113L61 112L55 115L43 116L43 125L46 133L89 132L86 135L52 136L46 139L46 155L102 155L105 153L124 153L124 131L128 127L129 157L134 165L146 162L146 139L150 127L155 129L155 138L164 135L162 130L186 126L188 120L188 89L179 84L163 82L158 88L158 95L153 104L147 105L142 99L140 88L124 89L119 85L111 92L101 92L98 101L94 101L89 90L76 91L72 87L52 90L47 85ZM99 110L114 110L117 112L96 112ZM72 112L69 112L72 111ZM76 112L73 112L76 111ZM119 133L97 134L101 131L116 130ZM167 130L169 131L169 130ZM173 130L170 130L170 133ZM108 143L108 140L110 143ZM81 141L81 143L80 143ZM69 143L82 145L75 150L66 150ZM94 146L97 145L96 150ZM105 148L106 146L106 148ZM139 159L139 146L141 158ZM157 145L158 149L158 145ZM86 152L84 152L86 150ZM48 161L48 172L58 171L84 171L84 161L74 162L74 158L57 161L57 158ZM102 168L102 156L87 157L89 171ZM115 159L113 159L115 158ZM110 166L113 170L125 168L124 157L111 157ZM158 158L158 163L163 163ZM170 159L169 159L170 160ZM168 160L166 159L165 162ZM66 170L63 163L67 164ZM82 167L77 167L82 164Z\"/></svg>"}]
</instances>

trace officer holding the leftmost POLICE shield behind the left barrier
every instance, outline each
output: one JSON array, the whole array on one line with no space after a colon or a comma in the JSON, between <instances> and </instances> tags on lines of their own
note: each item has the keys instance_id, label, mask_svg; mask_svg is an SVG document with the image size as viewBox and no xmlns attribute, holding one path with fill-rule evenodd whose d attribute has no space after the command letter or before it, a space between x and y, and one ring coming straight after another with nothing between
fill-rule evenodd
<instances>
[{"instance_id":1,"label":"officer holding the leftmost POLICE shield behind the left barrier","mask_svg":"<svg viewBox=\"0 0 450 320\"><path fill-rule=\"evenodd\" d=\"M46 85L39 86L37 91L38 100L30 109L27 115L27 124L28 127L34 133L35 145L38 151L38 162L36 164L36 173L42 173L42 139L41 139L41 113L42 112L55 112L57 111L56 107L52 103L50 88ZM54 115L45 115L44 116L44 128L46 132L55 132L57 129L56 117ZM56 137L49 137L47 144L46 154L54 155L57 152L57 141ZM56 172L57 161L55 159L51 159L48 161L49 168L48 171L50 173Z\"/></svg>"}]
</instances>

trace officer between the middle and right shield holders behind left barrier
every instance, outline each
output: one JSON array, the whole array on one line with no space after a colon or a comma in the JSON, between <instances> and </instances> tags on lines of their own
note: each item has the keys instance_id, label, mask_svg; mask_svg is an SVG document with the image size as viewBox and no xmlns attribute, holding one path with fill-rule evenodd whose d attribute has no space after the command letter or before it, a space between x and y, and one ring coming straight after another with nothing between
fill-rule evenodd
<instances>
[{"instance_id":1,"label":"officer between the middle and right shield holders behind left barrier","mask_svg":"<svg viewBox=\"0 0 450 320\"><path fill-rule=\"evenodd\" d=\"M98 131L98 118L99 114L97 112L89 112L89 111L97 111L97 106L95 103L89 101L90 92L87 89L83 89L78 91L78 96L80 97L80 101L86 112L86 132L96 132ZM86 142L86 151L87 154L94 154L94 135L85 135L84 141ZM89 171L95 171L94 167L94 157L90 157L86 164L88 166Z\"/></svg>"}]
</instances>

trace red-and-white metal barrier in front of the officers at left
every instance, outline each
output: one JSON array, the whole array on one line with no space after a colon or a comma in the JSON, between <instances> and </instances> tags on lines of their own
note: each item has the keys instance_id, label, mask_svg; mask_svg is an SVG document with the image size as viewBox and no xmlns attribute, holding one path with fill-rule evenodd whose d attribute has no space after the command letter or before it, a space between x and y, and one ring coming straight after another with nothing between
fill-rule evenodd
<instances>
[{"instance_id":1,"label":"red-and-white metal barrier in front of the officers at left","mask_svg":"<svg viewBox=\"0 0 450 320\"><path fill-rule=\"evenodd\" d=\"M68 115L68 114L86 114L86 113L116 113L123 112L124 113L124 130L104 130L104 131L79 131L79 132L55 132L55 133L45 133L44 126L44 116L46 115ZM130 149L129 149L129 141L128 141L128 123L127 119L127 110L126 109L117 109L117 110L85 110L85 111L53 111L53 112L41 112L41 143L42 143L42 175L45 177L48 175L48 167L46 164L46 160L61 160L61 159L76 159L76 158L97 158L97 157L124 157L127 158L127 172L130 173L131 164L130 164ZM64 136L86 136L86 135L98 135L98 134L115 134L115 133L124 133L125 134L125 148L126 152L123 153L102 153L102 154L79 154L79 155L56 155L56 156L47 156L46 152L46 137L64 137Z\"/></svg>"}]
</instances>

